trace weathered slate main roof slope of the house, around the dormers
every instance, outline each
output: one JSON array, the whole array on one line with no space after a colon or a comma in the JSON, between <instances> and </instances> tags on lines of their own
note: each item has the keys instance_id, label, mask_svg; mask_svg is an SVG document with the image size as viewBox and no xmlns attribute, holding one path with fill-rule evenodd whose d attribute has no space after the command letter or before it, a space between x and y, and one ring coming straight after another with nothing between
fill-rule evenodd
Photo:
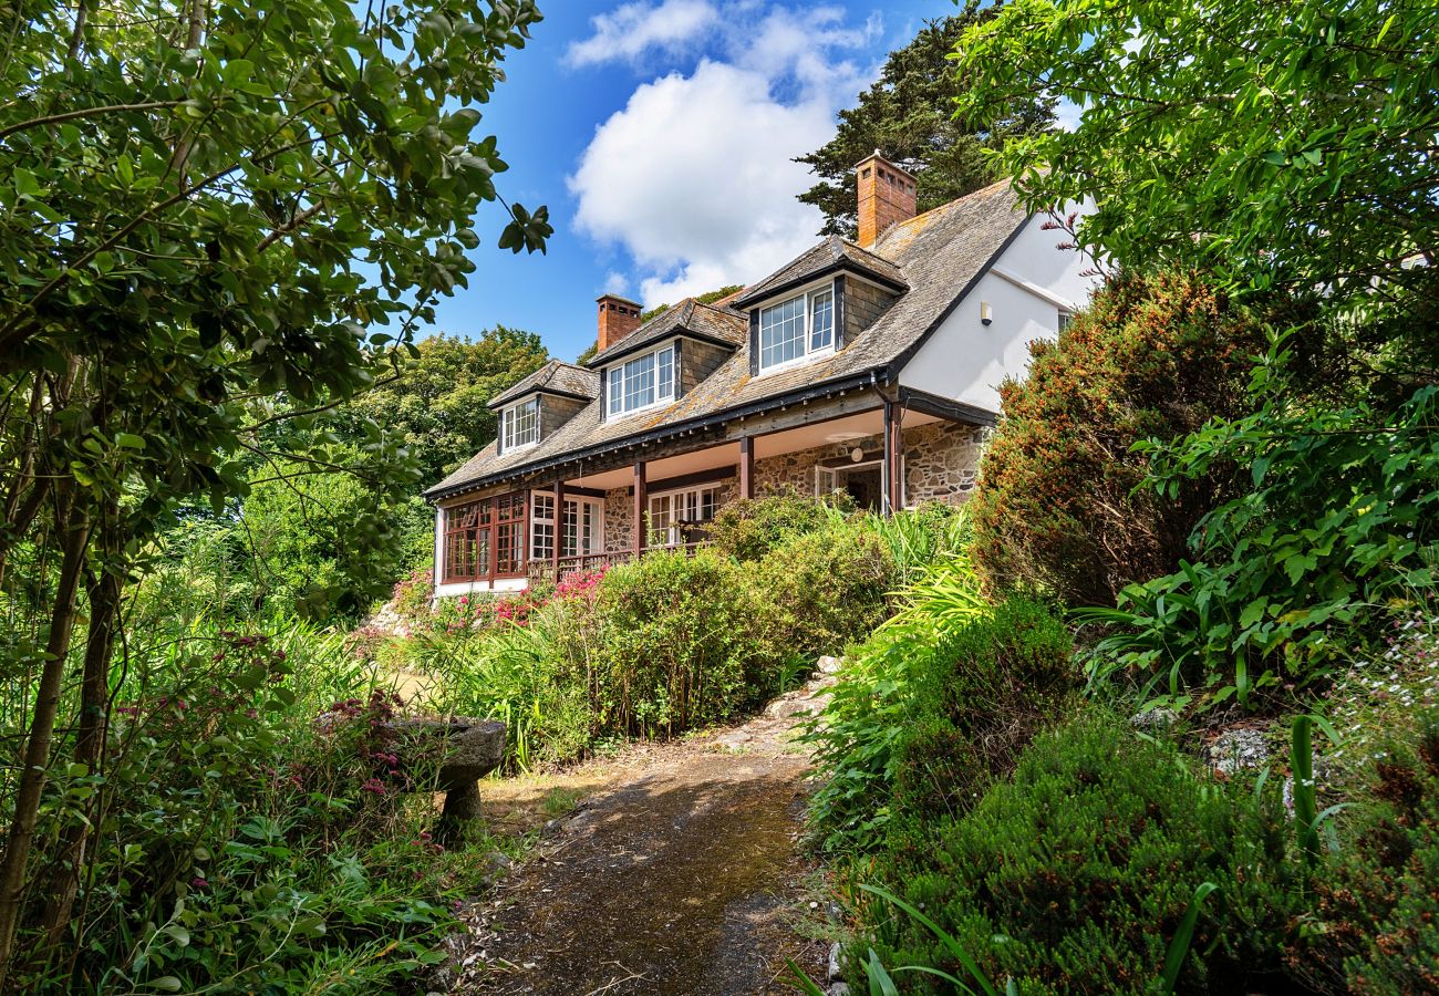
<instances>
[{"instance_id":1,"label":"weathered slate main roof slope of the house, around the dormers","mask_svg":"<svg viewBox=\"0 0 1439 996\"><path fill-rule=\"evenodd\" d=\"M745 335L745 341L718 370L673 404L604 422L600 419L600 404L594 402L535 446L496 456L495 445L491 443L426 495L445 497L551 461L599 455L639 435L679 429L730 410L823 387L827 381L868 377L869 371L898 371L1009 245L1025 220L1009 181L1000 181L895 225L872 252L865 253L858 246L843 243L856 253L885 261L898 271L908 289L869 328L833 356L781 373L751 377ZM793 273L802 272L806 258L817 255L823 259L826 253L833 253L827 239L780 272L790 272L789 279L794 279ZM832 261L833 255L827 258ZM767 276L743 296L755 299L753 291L776 285L774 275Z\"/></svg>"}]
</instances>

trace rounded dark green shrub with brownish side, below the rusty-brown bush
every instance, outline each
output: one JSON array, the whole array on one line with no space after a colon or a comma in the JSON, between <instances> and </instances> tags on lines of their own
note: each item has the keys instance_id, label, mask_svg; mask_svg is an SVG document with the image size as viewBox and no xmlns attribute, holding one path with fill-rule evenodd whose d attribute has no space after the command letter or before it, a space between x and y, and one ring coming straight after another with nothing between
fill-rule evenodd
<instances>
[{"instance_id":1,"label":"rounded dark green shrub with brownish side, below the rusty-brown bush","mask_svg":"<svg viewBox=\"0 0 1439 996\"><path fill-rule=\"evenodd\" d=\"M922 836L967 812L1078 688L1069 629L1030 597L1010 596L945 640L912 679L914 734L895 769L895 812Z\"/></svg>"}]
</instances>

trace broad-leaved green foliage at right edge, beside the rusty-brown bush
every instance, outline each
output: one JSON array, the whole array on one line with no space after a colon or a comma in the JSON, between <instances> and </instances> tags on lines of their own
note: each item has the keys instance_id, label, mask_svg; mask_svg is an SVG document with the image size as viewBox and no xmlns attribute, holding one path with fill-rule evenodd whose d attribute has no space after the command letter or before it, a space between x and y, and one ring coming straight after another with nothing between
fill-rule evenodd
<instances>
[{"instance_id":1,"label":"broad-leaved green foliage at right edge, beside the rusty-brown bush","mask_svg":"<svg viewBox=\"0 0 1439 996\"><path fill-rule=\"evenodd\" d=\"M1255 689L1324 674L1343 649L1335 630L1373 635L1377 607L1433 586L1436 390L1384 417L1366 404L1295 407L1269 386L1255 415L1156 452L1166 497L1220 459L1248 466L1253 489L1200 522L1196 563L1086 613L1118 628L1098 643L1095 681L1128 672L1145 698L1197 687L1210 702L1248 704Z\"/></svg>"}]
</instances>

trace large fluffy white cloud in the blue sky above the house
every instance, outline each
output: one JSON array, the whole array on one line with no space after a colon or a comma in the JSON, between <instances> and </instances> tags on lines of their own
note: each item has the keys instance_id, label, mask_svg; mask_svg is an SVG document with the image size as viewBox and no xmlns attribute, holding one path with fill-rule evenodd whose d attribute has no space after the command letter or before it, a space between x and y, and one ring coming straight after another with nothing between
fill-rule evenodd
<instances>
[{"instance_id":1,"label":"large fluffy white cloud in the blue sky above the house","mask_svg":"<svg viewBox=\"0 0 1439 996\"><path fill-rule=\"evenodd\" d=\"M820 213L794 199L813 177L791 160L829 141L875 72L846 58L873 23L740 7L711 39L720 55L637 86L570 177L576 226L629 252L648 305L754 282L814 243Z\"/></svg>"}]
</instances>

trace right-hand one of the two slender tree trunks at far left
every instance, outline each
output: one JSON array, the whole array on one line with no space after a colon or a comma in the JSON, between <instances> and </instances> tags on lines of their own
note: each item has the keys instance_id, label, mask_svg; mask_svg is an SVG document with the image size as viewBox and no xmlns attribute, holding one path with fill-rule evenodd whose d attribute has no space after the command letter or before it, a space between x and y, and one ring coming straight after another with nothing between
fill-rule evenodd
<instances>
[{"instance_id":1,"label":"right-hand one of the two slender tree trunks at far left","mask_svg":"<svg viewBox=\"0 0 1439 996\"><path fill-rule=\"evenodd\" d=\"M98 525L99 573L91 577L88 586L89 635L85 643L85 668L81 678L81 721L75 738L75 763L83 764L86 774L95 774L101 767L105 731L109 723L109 661L115 646L115 628L119 623L119 596L124 577L118 563L118 520L119 510L114 502L109 502L102 510ZM91 796L86 803L86 818L94 815L99 799L101 793ZM60 839L59 865L42 920L42 928L52 951L71 921L81 872L85 868L89 828L89 819L76 819L65 828Z\"/></svg>"}]
</instances>

